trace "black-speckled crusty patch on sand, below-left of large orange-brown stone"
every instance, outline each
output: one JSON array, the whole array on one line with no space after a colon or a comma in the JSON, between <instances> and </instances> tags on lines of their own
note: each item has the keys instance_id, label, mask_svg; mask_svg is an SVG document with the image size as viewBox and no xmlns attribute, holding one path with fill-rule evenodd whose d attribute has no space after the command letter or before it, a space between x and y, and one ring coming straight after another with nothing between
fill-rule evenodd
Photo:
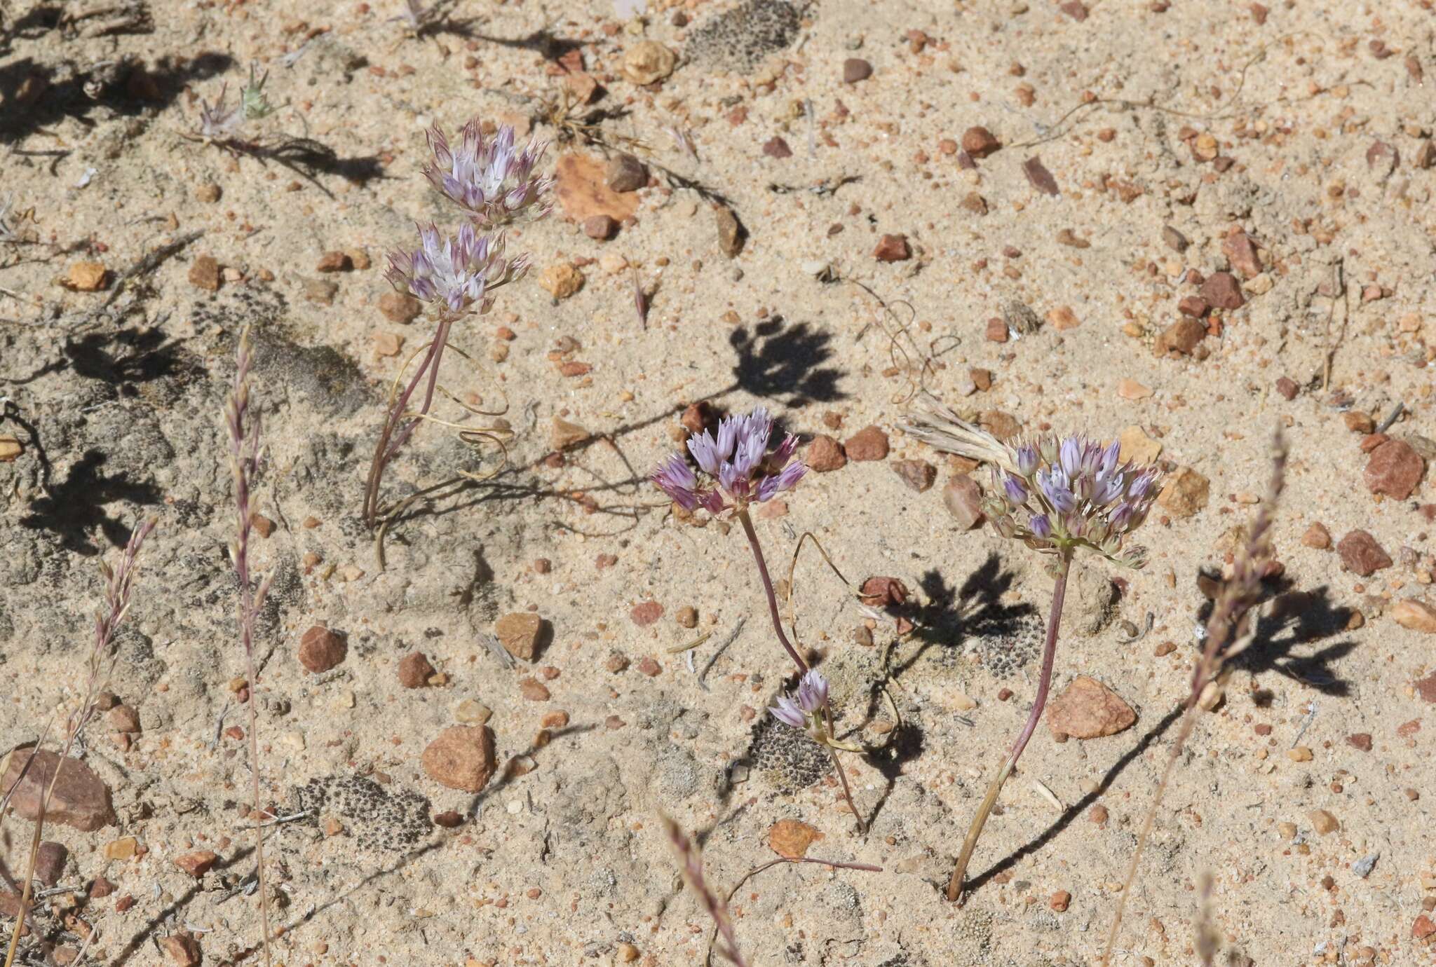
<instances>
[{"instance_id":1,"label":"black-speckled crusty patch on sand, below-left of large orange-brown stone","mask_svg":"<svg viewBox=\"0 0 1436 967\"><path fill-rule=\"evenodd\" d=\"M434 829L429 801L412 789L388 789L363 776L320 776L294 789L299 811L323 828L337 821L363 849L408 852Z\"/></svg>"}]
</instances>

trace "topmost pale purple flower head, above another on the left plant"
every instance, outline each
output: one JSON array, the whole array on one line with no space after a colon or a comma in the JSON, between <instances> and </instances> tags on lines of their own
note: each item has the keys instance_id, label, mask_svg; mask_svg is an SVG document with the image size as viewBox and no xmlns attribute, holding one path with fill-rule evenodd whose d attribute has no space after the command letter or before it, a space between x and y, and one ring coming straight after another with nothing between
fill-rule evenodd
<instances>
[{"instance_id":1,"label":"topmost pale purple flower head, above another on the left plant","mask_svg":"<svg viewBox=\"0 0 1436 967\"><path fill-rule=\"evenodd\" d=\"M527 148L516 149L514 129L508 125L485 139L477 118L464 125L462 135L455 151L438 125L429 128L434 161L424 168L429 184L467 208L480 225L503 225L530 207L528 214L534 218L549 214L550 202L544 195L553 178L533 174L546 142L534 139Z\"/></svg>"}]
</instances>

